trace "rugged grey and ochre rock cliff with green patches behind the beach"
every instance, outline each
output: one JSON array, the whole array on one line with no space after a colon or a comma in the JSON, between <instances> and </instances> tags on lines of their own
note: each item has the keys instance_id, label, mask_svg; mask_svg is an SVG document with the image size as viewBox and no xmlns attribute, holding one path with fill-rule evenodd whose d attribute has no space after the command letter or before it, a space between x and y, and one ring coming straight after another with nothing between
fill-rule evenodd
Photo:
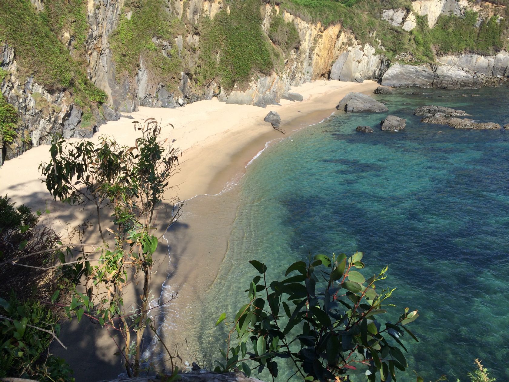
<instances>
[{"instance_id":1,"label":"rugged grey and ochre rock cliff with green patches behind the beach","mask_svg":"<svg viewBox=\"0 0 509 382\"><path fill-rule=\"evenodd\" d=\"M452 88L509 76L506 51L494 53L507 40L507 9L499 2L69 0L59 8L58 0L6 1L0 85L19 111L18 137L4 142L7 158L57 133L90 137L140 105L180 107L217 96L265 107L317 78ZM53 35L47 50L60 43L67 52L58 80L37 68L59 53L44 56L32 45L45 41L21 38L32 33L20 26L26 13L32 30L43 29L34 33ZM492 53L458 53L469 49Z\"/></svg>"}]
</instances>

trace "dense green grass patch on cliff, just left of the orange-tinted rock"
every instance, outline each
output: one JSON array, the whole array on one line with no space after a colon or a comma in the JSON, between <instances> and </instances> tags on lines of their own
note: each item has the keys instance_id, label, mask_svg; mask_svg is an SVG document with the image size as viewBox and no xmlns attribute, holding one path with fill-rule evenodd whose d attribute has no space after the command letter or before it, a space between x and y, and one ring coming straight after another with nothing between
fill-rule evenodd
<instances>
[{"instance_id":1,"label":"dense green grass patch on cliff, just left of the orange-tinted rock","mask_svg":"<svg viewBox=\"0 0 509 382\"><path fill-rule=\"evenodd\" d=\"M261 3L234 0L230 14L222 10L201 21L199 83L218 78L222 86L243 84L253 72L270 74L280 64L278 52L262 31Z\"/></svg>"}]
</instances>

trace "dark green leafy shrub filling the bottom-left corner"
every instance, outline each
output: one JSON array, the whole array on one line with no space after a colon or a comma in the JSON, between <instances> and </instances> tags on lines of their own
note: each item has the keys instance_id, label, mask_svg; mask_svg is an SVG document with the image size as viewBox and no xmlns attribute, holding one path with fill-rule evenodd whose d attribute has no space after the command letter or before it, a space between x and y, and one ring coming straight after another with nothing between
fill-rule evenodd
<instances>
[{"instance_id":1,"label":"dark green leafy shrub filling the bottom-left corner","mask_svg":"<svg viewBox=\"0 0 509 382\"><path fill-rule=\"evenodd\" d=\"M74 381L69 365L48 353L51 334L33 326L60 331L58 317L39 302L0 297L0 377Z\"/></svg>"}]
</instances>

